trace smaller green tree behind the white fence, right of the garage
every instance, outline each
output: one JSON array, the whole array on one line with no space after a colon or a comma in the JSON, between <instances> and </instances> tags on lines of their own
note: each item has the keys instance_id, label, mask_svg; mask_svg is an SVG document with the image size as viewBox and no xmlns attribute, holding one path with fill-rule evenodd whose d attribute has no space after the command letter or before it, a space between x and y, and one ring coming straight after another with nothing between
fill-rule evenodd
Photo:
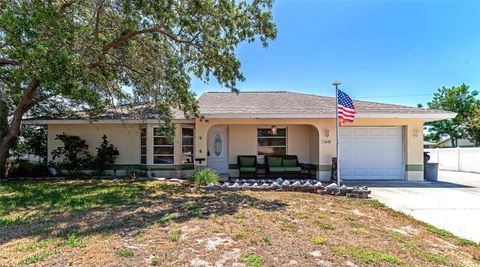
<instances>
[{"instance_id":1,"label":"smaller green tree behind the white fence, right of the garage","mask_svg":"<svg viewBox=\"0 0 480 267\"><path fill-rule=\"evenodd\" d=\"M428 123L432 139L440 140L442 137L449 137L452 146L456 147L458 139L469 136L469 124L474 117L475 110L479 107L479 100L476 98L478 92L470 90L470 87L462 84L439 88L434 93L432 101L428 102L431 109L441 109L457 113L453 119L434 121Z\"/></svg>"}]
</instances>

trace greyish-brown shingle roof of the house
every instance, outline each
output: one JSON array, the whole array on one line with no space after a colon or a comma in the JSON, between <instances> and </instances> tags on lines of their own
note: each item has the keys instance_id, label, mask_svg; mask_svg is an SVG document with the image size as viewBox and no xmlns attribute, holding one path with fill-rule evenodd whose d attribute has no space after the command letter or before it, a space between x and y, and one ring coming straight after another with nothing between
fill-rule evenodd
<instances>
[{"instance_id":1,"label":"greyish-brown shingle roof of the house","mask_svg":"<svg viewBox=\"0 0 480 267\"><path fill-rule=\"evenodd\" d=\"M335 116L335 98L293 92L207 92L198 99L201 115L221 116L222 114L243 115L308 115ZM375 115L408 115L418 117L439 115L455 116L442 110L423 109L402 105L354 100L359 117ZM431 116L433 115L433 116Z\"/></svg>"}]
</instances>

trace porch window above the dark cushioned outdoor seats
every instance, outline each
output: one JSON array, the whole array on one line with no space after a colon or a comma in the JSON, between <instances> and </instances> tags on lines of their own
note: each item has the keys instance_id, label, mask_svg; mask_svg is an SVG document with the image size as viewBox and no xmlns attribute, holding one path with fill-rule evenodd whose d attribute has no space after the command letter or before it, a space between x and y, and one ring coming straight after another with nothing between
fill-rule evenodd
<instances>
[{"instance_id":1,"label":"porch window above the dark cushioned outdoor seats","mask_svg":"<svg viewBox=\"0 0 480 267\"><path fill-rule=\"evenodd\" d=\"M278 128L273 135L271 129L258 129L258 155L286 155L287 154L287 129Z\"/></svg>"}]
</instances>

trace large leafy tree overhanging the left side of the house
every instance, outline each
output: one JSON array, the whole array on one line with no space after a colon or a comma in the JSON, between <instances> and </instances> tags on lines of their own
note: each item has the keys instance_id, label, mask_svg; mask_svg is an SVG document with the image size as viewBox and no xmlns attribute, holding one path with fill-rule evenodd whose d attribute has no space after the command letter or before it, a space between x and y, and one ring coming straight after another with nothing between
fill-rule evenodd
<instances>
[{"instance_id":1,"label":"large leafy tree overhanging the left side of the house","mask_svg":"<svg viewBox=\"0 0 480 267\"><path fill-rule=\"evenodd\" d=\"M236 91L235 48L276 36L272 0L0 0L0 177L25 116L118 103L197 111L190 78ZM55 115L53 114L53 115ZM52 115L52 114L50 114Z\"/></svg>"}]
</instances>

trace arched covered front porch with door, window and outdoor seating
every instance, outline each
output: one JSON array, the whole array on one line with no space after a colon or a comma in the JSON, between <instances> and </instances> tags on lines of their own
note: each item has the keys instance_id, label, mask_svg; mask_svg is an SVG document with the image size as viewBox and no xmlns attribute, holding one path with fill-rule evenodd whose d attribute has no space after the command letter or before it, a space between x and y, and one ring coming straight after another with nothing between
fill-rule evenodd
<instances>
[{"instance_id":1,"label":"arched covered front porch with door, window and outdoor seating","mask_svg":"<svg viewBox=\"0 0 480 267\"><path fill-rule=\"evenodd\" d=\"M334 120L299 119L198 119L196 123L196 166L207 166L223 179L239 178L239 156L255 158L256 175L241 178L284 177L269 175L266 157L297 158L300 172L288 178L330 180L334 156ZM330 127L329 127L330 126ZM321 152L321 144L323 152ZM333 146L333 148L329 148ZM330 151L330 152L329 152ZM322 156L320 156L322 155Z\"/></svg>"}]
</instances>

